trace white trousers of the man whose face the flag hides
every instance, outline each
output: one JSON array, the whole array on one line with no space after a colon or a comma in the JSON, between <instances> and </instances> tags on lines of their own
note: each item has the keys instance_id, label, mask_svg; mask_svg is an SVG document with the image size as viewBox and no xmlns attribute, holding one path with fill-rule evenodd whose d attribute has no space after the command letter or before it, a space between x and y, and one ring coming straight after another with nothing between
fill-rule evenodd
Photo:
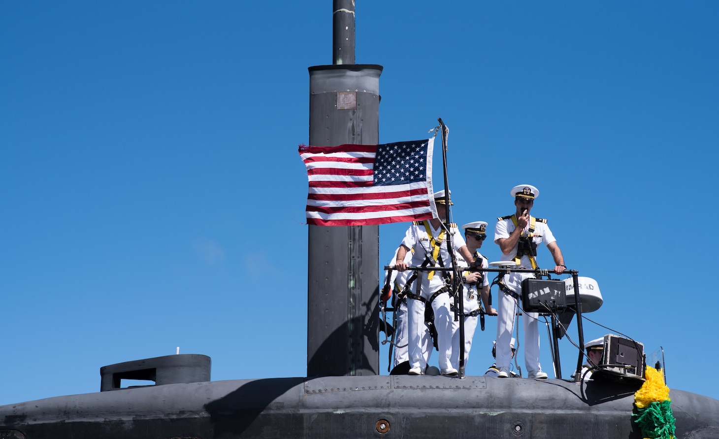
<instances>
[{"instance_id":1,"label":"white trousers of the man whose face the flag hides","mask_svg":"<svg viewBox=\"0 0 719 439\"><path fill-rule=\"evenodd\" d=\"M449 294L439 294L432 302L431 307L434 310L434 327L437 331L439 368L450 368L452 317L449 312ZM423 371L427 367L427 361L429 361L433 348L429 329L424 324L424 308L423 302L416 299L407 299L409 366L410 368L421 368Z\"/></svg>"}]
</instances>

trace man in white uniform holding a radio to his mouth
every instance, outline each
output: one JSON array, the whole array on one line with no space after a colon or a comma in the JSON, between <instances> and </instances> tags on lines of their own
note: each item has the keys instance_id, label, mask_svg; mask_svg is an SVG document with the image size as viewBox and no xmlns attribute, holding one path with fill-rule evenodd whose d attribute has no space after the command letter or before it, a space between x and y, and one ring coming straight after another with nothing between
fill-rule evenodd
<instances>
[{"instance_id":1,"label":"man in white uniform holding a radio to his mouth","mask_svg":"<svg viewBox=\"0 0 719 439\"><path fill-rule=\"evenodd\" d=\"M534 200L539 190L531 184L514 186L510 191L514 199L516 212L507 217L498 218L495 226L494 241L502 250L502 261L515 261L518 268L537 269L536 248L544 243L554 258L554 273L562 274L564 257L559 250L557 240L551 234L546 219L532 217ZM500 378L509 376L511 358L510 340L514 327L514 317L521 299L522 281L534 277L532 273L510 273L504 276L498 294L497 317L497 367ZM522 323L524 328L524 365L528 378L545 379L547 376L539 364L539 325L536 312L524 312Z\"/></svg>"}]
</instances>

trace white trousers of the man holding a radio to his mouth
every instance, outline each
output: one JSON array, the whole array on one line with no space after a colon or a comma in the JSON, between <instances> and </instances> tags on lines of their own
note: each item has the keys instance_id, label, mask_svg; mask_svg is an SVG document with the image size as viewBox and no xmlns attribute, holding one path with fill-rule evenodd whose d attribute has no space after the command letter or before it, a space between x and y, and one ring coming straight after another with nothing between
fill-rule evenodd
<instances>
[{"instance_id":1,"label":"white trousers of the man holding a radio to his mouth","mask_svg":"<svg viewBox=\"0 0 719 439\"><path fill-rule=\"evenodd\" d=\"M510 275L511 276L511 275ZM509 276L508 276L509 277ZM517 283L507 284L512 288L512 285ZM521 279L518 282L521 285ZM514 289L513 291L520 291L521 287ZM512 359L512 349L510 343L512 342L512 329L514 327L514 317L516 312L516 305L518 304L517 299L511 297L509 294L505 294L503 291L499 291L497 304L497 367L509 367ZM539 314L536 312L523 312L522 313L522 324L524 329L524 366L527 371L535 371L539 369L539 320L537 320Z\"/></svg>"}]
</instances>

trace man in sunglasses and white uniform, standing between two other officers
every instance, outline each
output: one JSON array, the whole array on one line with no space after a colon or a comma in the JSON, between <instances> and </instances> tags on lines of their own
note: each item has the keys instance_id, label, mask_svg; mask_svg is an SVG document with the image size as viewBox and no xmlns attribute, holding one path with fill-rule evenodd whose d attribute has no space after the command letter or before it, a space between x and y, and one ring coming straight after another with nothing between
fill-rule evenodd
<instances>
[{"instance_id":1,"label":"man in sunglasses and white uniform, standing between two other officers","mask_svg":"<svg viewBox=\"0 0 719 439\"><path fill-rule=\"evenodd\" d=\"M479 252L487 238L487 223L484 221L468 222L462 226L464 229L464 242L467 243L467 250L475 257L475 261L482 258L482 268L487 268L487 258ZM457 265L467 267L464 258L458 259ZM478 271L464 271L462 273L462 289L464 290L464 364L470 358L470 349L472 348L472 339L477 329L477 320L480 315L480 307L489 315L497 315L497 310L490 306L490 283L487 280L487 273ZM482 304L480 304L480 298ZM454 312L454 307L450 307ZM459 320L452 321L452 367L459 368Z\"/></svg>"}]
</instances>

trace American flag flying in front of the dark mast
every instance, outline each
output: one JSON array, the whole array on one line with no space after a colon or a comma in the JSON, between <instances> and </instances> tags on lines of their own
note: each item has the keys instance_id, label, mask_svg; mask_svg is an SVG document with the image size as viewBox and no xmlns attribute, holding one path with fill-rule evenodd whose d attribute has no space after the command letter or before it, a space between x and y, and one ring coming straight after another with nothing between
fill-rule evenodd
<instances>
[{"instance_id":1,"label":"American flag flying in front of the dark mast","mask_svg":"<svg viewBox=\"0 0 719 439\"><path fill-rule=\"evenodd\" d=\"M436 217L434 138L385 145L300 145L307 223L377 225Z\"/></svg>"}]
</instances>

